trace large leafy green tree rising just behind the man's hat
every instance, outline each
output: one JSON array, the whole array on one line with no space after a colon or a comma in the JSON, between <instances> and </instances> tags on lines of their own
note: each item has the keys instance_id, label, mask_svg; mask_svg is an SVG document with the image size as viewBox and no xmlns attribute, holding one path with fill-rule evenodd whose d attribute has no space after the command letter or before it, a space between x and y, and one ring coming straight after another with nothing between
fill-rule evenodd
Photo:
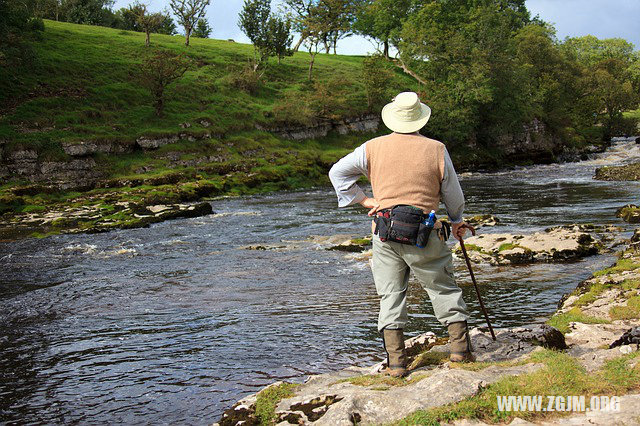
<instances>
[{"instance_id":1,"label":"large leafy green tree rising just behind the man's hat","mask_svg":"<svg viewBox=\"0 0 640 426\"><path fill-rule=\"evenodd\" d=\"M448 141L490 141L522 126L513 108L513 35L530 21L524 0L425 1L392 34L398 65L423 85L431 128Z\"/></svg>"}]
</instances>

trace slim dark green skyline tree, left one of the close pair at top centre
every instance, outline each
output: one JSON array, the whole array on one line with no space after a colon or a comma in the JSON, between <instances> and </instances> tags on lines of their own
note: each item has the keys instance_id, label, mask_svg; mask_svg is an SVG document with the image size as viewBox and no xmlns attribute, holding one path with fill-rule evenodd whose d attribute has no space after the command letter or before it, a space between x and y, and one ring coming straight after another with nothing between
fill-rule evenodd
<instances>
[{"instance_id":1,"label":"slim dark green skyline tree, left one of the close pair at top centre","mask_svg":"<svg viewBox=\"0 0 640 426\"><path fill-rule=\"evenodd\" d=\"M240 11L238 26L253 44L254 71L269 57L270 15L271 0L245 0Z\"/></svg>"}]
</instances>

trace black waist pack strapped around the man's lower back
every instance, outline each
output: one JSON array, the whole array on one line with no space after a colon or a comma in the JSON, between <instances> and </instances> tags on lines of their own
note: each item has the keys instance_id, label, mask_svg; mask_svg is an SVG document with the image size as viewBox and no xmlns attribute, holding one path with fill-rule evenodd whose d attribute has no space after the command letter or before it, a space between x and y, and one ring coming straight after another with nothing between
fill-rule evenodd
<instances>
[{"instance_id":1,"label":"black waist pack strapped around the man's lower back","mask_svg":"<svg viewBox=\"0 0 640 426\"><path fill-rule=\"evenodd\" d=\"M409 205L397 205L381 210L375 218L374 234L380 241L393 241L424 248L433 230L435 215L429 220L421 209Z\"/></svg>"}]
</instances>

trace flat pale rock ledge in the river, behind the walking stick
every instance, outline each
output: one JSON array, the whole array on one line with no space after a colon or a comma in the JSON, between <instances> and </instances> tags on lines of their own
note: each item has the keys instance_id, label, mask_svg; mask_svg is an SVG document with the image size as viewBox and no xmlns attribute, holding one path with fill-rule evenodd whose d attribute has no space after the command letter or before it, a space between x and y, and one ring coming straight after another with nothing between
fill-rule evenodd
<instances>
[{"instance_id":1,"label":"flat pale rock ledge in the river, behind the walking stick","mask_svg":"<svg viewBox=\"0 0 640 426\"><path fill-rule=\"evenodd\" d=\"M622 244L614 226L563 225L533 234L482 234L465 239L472 262L492 265L566 262ZM460 245L455 247L461 252Z\"/></svg>"}]
</instances>

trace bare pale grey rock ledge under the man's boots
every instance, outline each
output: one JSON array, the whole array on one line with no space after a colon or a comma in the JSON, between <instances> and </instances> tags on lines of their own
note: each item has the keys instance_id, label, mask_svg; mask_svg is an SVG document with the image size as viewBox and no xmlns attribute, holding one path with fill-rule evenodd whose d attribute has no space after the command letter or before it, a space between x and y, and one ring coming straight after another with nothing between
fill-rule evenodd
<instances>
[{"instance_id":1,"label":"bare pale grey rock ledge under the man's boots","mask_svg":"<svg viewBox=\"0 0 640 426\"><path fill-rule=\"evenodd\" d=\"M494 342L488 332L474 328L472 345L479 362L518 361L544 346L565 349L564 336L547 325L496 330ZM479 371L455 368L444 362L448 344L433 333L408 339L406 346L412 365L417 365L402 386L362 386L353 379L376 375L384 363L373 367L349 367L341 371L311 376L295 388L295 394L276 407L277 424L353 425L384 424L409 414L460 401L475 395L487 385L506 376L529 373L536 363L488 365ZM425 350L426 349L426 350ZM425 354L441 362L420 366ZM270 386L278 386L274 383ZM266 389L266 388L265 388ZM219 425L260 424L256 416L258 394L250 395L224 412Z\"/></svg>"}]
</instances>

